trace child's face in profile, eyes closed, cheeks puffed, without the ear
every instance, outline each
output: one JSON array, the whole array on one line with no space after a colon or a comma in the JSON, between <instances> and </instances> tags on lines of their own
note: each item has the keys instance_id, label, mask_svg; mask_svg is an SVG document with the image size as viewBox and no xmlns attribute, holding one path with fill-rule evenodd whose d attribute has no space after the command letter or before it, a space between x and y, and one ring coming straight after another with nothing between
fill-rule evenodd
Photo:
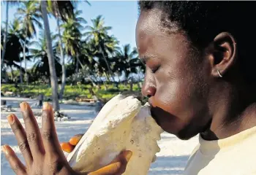
<instances>
[{"instance_id":1,"label":"child's face in profile, eyes closed, cheeks puffed, without the ear","mask_svg":"<svg viewBox=\"0 0 256 175\"><path fill-rule=\"evenodd\" d=\"M185 36L168 33L160 15L159 10L141 12L137 23L138 52L146 63L142 93L150 96L152 116L165 131L189 139L211 122L210 63L192 54Z\"/></svg>"}]
</instances>

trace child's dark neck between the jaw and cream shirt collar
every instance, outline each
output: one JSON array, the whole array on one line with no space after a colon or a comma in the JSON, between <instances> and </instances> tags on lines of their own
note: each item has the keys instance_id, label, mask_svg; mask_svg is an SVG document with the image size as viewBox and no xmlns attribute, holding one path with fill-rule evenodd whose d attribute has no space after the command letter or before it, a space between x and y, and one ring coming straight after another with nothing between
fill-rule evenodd
<instances>
[{"instance_id":1,"label":"child's dark neck between the jaw and cream shirt collar","mask_svg":"<svg viewBox=\"0 0 256 175\"><path fill-rule=\"evenodd\" d=\"M203 139L225 139L236 133L256 126L256 98L255 92L244 82L237 85L225 83L217 88L219 96L214 98L214 111L211 123L205 132L201 133Z\"/></svg>"}]
</instances>

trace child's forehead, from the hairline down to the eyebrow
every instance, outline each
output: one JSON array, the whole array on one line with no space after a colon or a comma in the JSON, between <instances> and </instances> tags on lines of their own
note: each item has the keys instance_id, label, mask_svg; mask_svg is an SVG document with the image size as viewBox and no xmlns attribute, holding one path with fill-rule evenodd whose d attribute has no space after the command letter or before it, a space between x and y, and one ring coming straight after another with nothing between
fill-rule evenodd
<instances>
[{"instance_id":1,"label":"child's forehead, from the hairline down to the eyebrow","mask_svg":"<svg viewBox=\"0 0 256 175\"><path fill-rule=\"evenodd\" d=\"M162 15L159 9L140 13L136 26L136 44L140 57L170 54L187 46L186 37L176 30L175 25L173 28L162 25Z\"/></svg>"}]
</instances>

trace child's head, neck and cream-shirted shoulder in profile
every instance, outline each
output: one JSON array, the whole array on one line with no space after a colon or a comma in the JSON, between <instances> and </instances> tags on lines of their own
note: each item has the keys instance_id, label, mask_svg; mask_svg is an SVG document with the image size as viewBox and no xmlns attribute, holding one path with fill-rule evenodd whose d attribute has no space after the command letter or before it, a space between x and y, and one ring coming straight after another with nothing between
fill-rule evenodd
<instances>
[{"instance_id":1,"label":"child's head, neck and cream-shirted shoulder in profile","mask_svg":"<svg viewBox=\"0 0 256 175\"><path fill-rule=\"evenodd\" d=\"M255 2L139 6L151 113L179 139L200 134L184 174L256 174Z\"/></svg>"}]
</instances>

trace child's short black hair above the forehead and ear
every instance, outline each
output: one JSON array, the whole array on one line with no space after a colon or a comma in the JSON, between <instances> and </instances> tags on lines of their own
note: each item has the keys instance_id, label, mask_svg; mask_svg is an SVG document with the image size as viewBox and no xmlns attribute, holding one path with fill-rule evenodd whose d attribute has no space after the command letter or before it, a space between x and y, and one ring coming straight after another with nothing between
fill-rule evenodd
<instances>
[{"instance_id":1,"label":"child's short black hair above the forehead and ear","mask_svg":"<svg viewBox=\"0 0 256 175\"><path fill-rule=\"evenodd\" d=\"M162 25L175 23L200 50L217 34L228 32L238 47L242 74L256 82L256 1L139 1L139 10L160 9Z\"/></svg>"}]
</instances>

